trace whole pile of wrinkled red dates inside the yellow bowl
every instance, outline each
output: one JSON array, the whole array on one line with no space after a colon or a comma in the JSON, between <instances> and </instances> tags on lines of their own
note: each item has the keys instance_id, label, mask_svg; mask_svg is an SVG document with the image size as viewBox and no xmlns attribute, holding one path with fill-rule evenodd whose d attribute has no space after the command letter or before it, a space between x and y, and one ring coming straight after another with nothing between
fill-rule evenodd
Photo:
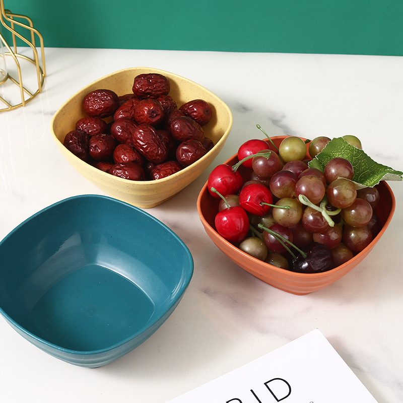
<instances>
[{"instance_id":1,"label":"whole pile of wrinkled red dates inside the yellow bowl","mask_svg":"<svg viewBox=\"0 0 403 403\"><path fill-rule=\"evenodd\" d=\"M132 93L107 89L83 99L86 116L66 134L63 145L94 167L129 180L172 175L209 152L214 144L203 126L211 106L195 99L178 107L170 82L157 73L135 77Z\"/></svg>"}]
</instances>

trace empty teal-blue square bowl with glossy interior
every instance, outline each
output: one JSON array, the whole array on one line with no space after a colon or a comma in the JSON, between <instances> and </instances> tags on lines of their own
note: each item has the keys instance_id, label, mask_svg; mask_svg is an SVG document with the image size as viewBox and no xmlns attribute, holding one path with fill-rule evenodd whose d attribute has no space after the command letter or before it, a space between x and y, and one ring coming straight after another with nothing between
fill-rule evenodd
<instances>
[{"instance_id":1,"label":"empty teal-blue square bowl with glossy interior","mask_svg":"<svg viewBox=\"0 0 403 403\"><path fill-rule=\"evenodd\" d=\"M143 210L82 195L0 242L0 312L46 353L99 367L148 339L193 274L182 240Z\"/></svg>"}]
</instances>

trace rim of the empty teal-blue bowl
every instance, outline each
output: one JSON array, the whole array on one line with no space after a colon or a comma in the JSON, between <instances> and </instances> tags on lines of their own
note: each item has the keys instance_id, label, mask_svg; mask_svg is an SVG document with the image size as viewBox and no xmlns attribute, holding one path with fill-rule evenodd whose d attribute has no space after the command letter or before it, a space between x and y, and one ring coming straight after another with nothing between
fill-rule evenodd
<instances>
[{"instance_id":1,"label":"rim of the empty teal-blue bowl","mask_svg":"<svg viewBox=\"0 0 403 403\"><path fill-rule=\"evenodd\" d=\"M193 257L189 251L189 248L186 246L186 244L179 238L179 236L173 232L166 224L164 224L162 221L158 220L157 218L155 218L154 216L152 216L151 214L145 212L144 210L136 207L136 206L132 206L128 203L125 203L124 201L118 200L114 197L110 197L110 196L104 196L104 195L99 195L99 194L80 194L80 195L76 195L76 196L71 196L71 197L67 197L64 198L62 200L56 201L55 203L51 204L50 206L45 207L44 209L36 212L35 214L33 214L32 216L28 217L26 220L24 220L21 224L19 224L17 227L15 227L13 230L11 230L2 240L0 240L0 247L2 246L2 244L4 243L4 241L6 239L8 239L9 237L11 237L15 232L18 231L19 228L23 227L27 222L29 222L30 220L32 220L33 218L41 215L42 213L55 208L56 206L62 205L64 203L68 203L71 200L74 199L81 199L81 198L98 198L98 199L106 199L111 201L112 203L115 203L117 205L123 205L125 207L128 207L130 209L135 210L138 214L143 214L145 215L148 219L155 221L157 224L161 225L167 232L169 232L178 242L179 244L183 247L183 250L185 252L185 256L187 256L188 260L189 260L189 270L185 273L186 276L184 278L182 278L181 283L182 286L180 288L176 288L177 291L180 291L177 293L176 297L174 299L172 299L169 303L168 309L164 312L162 312L159 316L155 317L154 320L150 323L147 323L146 326L144 326L143 328L139 329L138 331L136 331L135 333L133 333L131 336L122 339L120 342L115 343L114 345L105 347L103 349L98 349L98 350L88 350L88 351L81 351L81 350L72 350L72 349L66 349L64 347L58 346L56 344L50 343L40 337L38 337L36 334L33 334L32 332L28 331L25 327L21 326L18 322L16 322L13 318L11 318L0 306L0 314L2 314L2 316L4 316L4 318L6 319L6 321L8 321L10 323L10 325L12 327L15 327L16 329L19 329L20 332L22 332L23 334L25 334L27 336L27 338L29 339L33 339L36 340L37 342L39 342L42 345L47 346L49 349L53 349L53 350L57 350L59 352L63 352L65 354L69 354L69 355L79 355L79 356L89 356L89 355L98 355L98 354L103 354L103 353L107 353L109 351L112 351L116 348L119 348L120 346L123 346L125 344L127 344L129 341L134 340L138 337L140 337L143 333L145 333L147 331L147 329L152 328L153 326L156 326L161 319L164 318L164 316L168 314L168 316L173 312L173 308L175 308L175 305L177 303L179 303L180 299L182 298L184 292L186 291L190 280L193 276L193 270L194 270L194 262L193 262ZM167 316L167 317L168 317ZM165 319L164 319L165 320ZM157 328L159 327L159 325L157 326ZM155 330L157 330L157 328ZM155 331L154 330L154 331ZM153 331L153 332L154 332ZM152 333L151 333L152 334ZM147 337L145 338L147 339ZM141 341L141 343L143 343L144 340Z\"/></svg>"}]
</instances>

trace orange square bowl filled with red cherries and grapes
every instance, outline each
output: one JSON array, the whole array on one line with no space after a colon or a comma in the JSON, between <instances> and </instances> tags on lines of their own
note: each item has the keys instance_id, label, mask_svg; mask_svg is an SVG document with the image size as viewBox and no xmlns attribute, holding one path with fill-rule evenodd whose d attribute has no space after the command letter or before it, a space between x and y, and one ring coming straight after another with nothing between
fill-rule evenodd
<instances>
[{"instance_id":1,"label":"orange square bowl filled with red cherries and grapes","mask_svg":"<svg viewBox=\"0 0 403 403\"><path fill-rule=\"evenodd\" d=\"M288 139L299 151L284 146ZM330 174L326 179L323 167L333 159L333 149L347 143L344 139L328 139L329 146L323 143L313 160L309 147L315 139L295 139L266 139L253 152L245 152L242 145L238 154L211 172L199 193L197 210L207 234L231 260L267 284L302 295L337 281L370 252L392 218L395 199L383 180L360 179L379 182L369 186L348 179L349 161L333 161L333 169L326 172L338 171L337 179ZM350 144L346 147L362 153ZM285 162L281 150L300 159ZM401 172L384 169L388 178L401 179ZM331 206L330 199L338 207ZM230 217L235 209L239 216L239 209L247 213L246 223L244 215Z\"/></svg>"}]
</instances>

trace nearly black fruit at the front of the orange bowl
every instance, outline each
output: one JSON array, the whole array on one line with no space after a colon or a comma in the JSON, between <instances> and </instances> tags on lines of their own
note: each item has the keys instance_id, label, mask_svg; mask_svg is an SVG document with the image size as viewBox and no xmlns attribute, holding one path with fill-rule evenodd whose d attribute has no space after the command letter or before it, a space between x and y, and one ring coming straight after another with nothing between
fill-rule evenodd
<instances>
[{"instance_id":1,"label":"nearly black fruit at the front of the orange bowl","mask_svg":"<svg viewBox=\"0 0 403 403\"><path fill-rule=\"evenodd\" d=\"M333 255L330 249L317 242L312 242L302 254L293 259L292 271L297 273L322 273L334 267Z\"/></svg>"}]
</instances>

